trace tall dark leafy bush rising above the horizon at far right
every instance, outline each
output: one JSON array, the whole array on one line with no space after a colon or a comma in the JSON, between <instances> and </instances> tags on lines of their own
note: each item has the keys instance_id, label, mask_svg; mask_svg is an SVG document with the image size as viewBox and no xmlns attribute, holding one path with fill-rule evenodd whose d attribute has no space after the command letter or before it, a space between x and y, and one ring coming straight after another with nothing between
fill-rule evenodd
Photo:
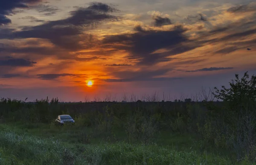
<instances>
[{"instance_id":1,"label":"tall dark leafy bush rising above the horizon at far right","mask_svg":"<svg viewBox=\"0 0 256 165\"><path fill-rule=\"evenodd\" d=\"M230 88L222 86L219 90L215 87L216 98L225 102L223 124L229 128L228 143L236 151L237 159L244 157L255 159L251 155L256 155L253 146L256 145L256 76L249 80L247 72L239 80L230 82ZM224 120L225 119L225 120Z\"/></svg>"}]
</instances>

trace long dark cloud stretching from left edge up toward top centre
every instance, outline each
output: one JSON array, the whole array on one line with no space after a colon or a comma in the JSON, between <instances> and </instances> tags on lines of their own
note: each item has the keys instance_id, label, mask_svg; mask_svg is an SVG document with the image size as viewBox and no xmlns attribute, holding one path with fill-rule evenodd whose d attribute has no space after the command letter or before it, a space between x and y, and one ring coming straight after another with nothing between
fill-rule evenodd
<instances>
[{"instance_id":1,"label":"long dark cloud stretching from left edge up toward top centre","mask_svg":"<svg viewBox=\"0 0 256 165\"><path fill-rule=\"evenodd\" d=\"M84 49L84 46L95 44L92 42L92 40L95 41L92 35L83 34L84 27L96 26L101 21L118 18L107 13L112 12L111 7L109 10L102 11L103 9L100 7L102 4L98 4L99 9L96 8L96 5L71 11L71 16L63 20L48 21L39 26L23 27L21 31L9 31L9 33L1 35L0 39L42 38L65 49ZM80 42L88 44L80 44Z\"/></svg>"}]
</instances>

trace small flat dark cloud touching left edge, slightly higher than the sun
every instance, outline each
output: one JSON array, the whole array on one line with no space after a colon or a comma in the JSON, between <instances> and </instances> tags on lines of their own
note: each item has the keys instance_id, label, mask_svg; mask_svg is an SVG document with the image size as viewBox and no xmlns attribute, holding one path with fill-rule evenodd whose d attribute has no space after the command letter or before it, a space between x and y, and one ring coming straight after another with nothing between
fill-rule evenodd
<instances>
[{"instance_id":1,"label":"small flat dark cloud touching left edge, slightly higher than the sun","mask_svg":"<svg viewBox=\"0 0 256 165\"><path fill-rule=\"evenodd\" d=\"M22 58L5 58L0 59L0 66L34 66L36 62Z\"/></svg>"}]
</instances>

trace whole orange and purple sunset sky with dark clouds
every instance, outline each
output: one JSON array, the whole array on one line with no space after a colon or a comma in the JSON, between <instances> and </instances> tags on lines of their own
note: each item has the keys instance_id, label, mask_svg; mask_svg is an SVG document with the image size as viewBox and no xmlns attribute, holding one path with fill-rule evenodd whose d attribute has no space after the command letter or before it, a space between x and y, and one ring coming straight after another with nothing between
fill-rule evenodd
<instances>
[{"instance_id":1,"label":"whole orange and purple sunset sky with dark clouds","mask_svg":"<svg viewBox=\"0 0 256 165\"><path fill-rule=\"evenodd\" d=\"M190 96L255 74L255 46L253 0L0 0L0 97Z\"/></svg>"}]
</instances>

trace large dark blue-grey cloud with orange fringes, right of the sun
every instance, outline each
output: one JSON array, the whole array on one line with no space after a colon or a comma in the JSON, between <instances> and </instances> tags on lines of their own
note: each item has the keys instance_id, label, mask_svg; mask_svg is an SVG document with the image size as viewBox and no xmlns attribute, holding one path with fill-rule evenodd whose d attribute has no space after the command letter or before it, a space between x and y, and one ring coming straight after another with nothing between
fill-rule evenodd
<instances>
[{"instance_id":1,"label":"large dark blue-grey cloud with orange fringes, right of the sun","mask_svg":"<svg viewBox=\"0 0 256 165\"><path fill-rule=\"evenodd\" d=\"M153 65L169 61L172 60L168 57L170 55L180 54L200 46L200 44L194 44L188 36L183 34L186 29L182 26L175 26L169 31L144 30L140 26L137 26L135 30L134 34L106 36L103 43L111 48L128 51L129 55L126 58L137 59L138 65ZM155 52L163 48L167 52Z\"/></svg>"}]
</instances>

